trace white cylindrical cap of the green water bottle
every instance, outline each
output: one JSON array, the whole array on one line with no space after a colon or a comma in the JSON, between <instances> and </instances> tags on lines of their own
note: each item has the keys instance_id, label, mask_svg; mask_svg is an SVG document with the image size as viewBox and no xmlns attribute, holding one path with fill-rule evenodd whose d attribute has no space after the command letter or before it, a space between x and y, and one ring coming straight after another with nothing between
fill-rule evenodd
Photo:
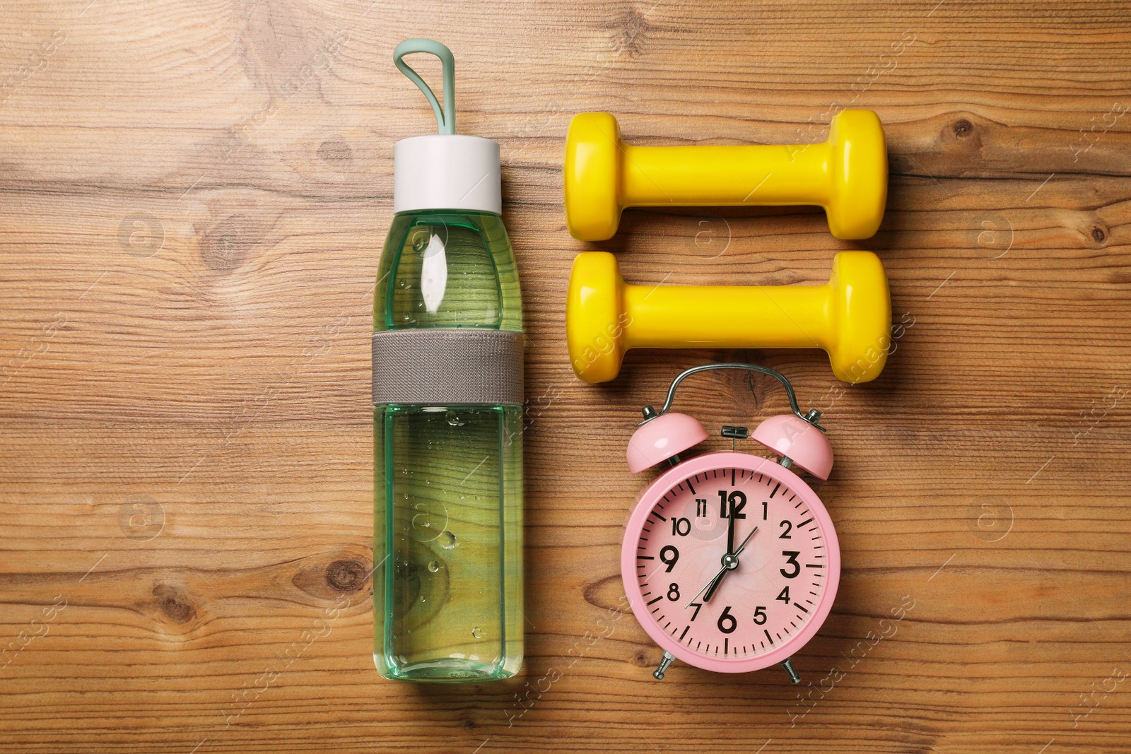
<instances>
[{"instance_id":1,"label":"white cylindrical cap of the green water bottle","mask_svg":"<svg viewBox=\"0 0 1131 754\"><path fill-rule=\"evenodd\" d=\"M454 133L397 141L392 158L392 211L417 209L470 209L501 215L499 144Z\"/></svg>"}]
</instances>

